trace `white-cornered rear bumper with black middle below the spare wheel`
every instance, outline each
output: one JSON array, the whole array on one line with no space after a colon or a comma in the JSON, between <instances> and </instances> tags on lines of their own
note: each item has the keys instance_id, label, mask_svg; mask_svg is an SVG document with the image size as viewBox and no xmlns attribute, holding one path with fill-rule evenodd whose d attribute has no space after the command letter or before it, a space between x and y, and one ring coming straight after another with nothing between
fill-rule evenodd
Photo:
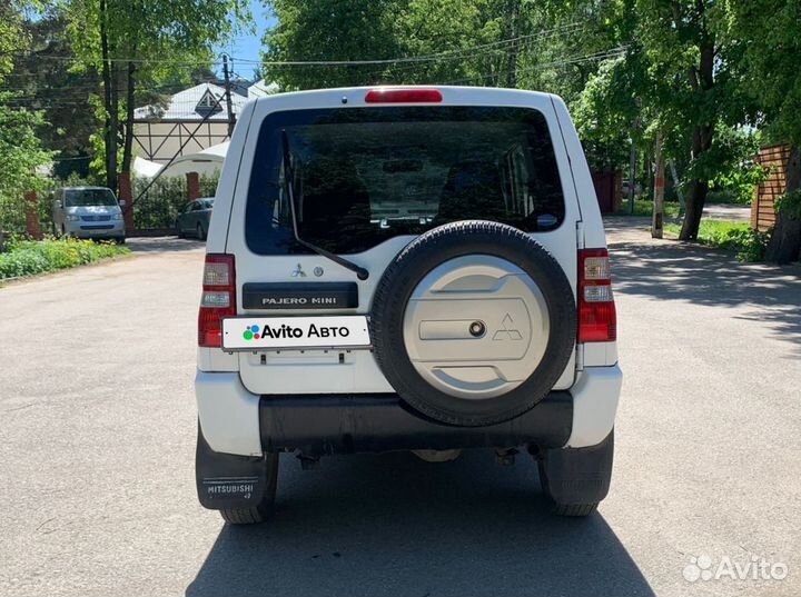
<instances>
[{"instance_id":1,"label":"white-cornered rear bumper with black middle below the spare wheel","mask_svg":"<svg viewBox=\"0 0 801 597\"><path fill-rule=\"evenodd\" d=\"M622 374L585 368L570 391L551 392L520 417L453 427L409 409L393 394L257 396L237 372L198 371L195 390L211 450L240 456L299 449L309 454L513 447L585 447L614 426Z\"/></svg>"}]
</instances>

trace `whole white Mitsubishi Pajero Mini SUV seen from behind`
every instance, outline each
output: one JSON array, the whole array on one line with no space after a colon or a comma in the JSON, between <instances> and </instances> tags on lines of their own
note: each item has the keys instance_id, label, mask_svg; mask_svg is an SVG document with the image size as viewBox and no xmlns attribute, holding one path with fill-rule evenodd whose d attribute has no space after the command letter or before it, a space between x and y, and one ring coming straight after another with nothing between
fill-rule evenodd
<instances>
[{"instance_id":1,"label":"whole white Mitsubishi Pajero Mini SUV seen from behind","mask_svg":"<svg viewBox=\"0 0 801 597\"><path fill-rule=\"evenodd\" d=\"M564 102L329 89L249 103L208 231L197 489L235 524L278 458L490 447L557 514L610 486L621 389L603 222Z\"/></svg>"}]
</instances>

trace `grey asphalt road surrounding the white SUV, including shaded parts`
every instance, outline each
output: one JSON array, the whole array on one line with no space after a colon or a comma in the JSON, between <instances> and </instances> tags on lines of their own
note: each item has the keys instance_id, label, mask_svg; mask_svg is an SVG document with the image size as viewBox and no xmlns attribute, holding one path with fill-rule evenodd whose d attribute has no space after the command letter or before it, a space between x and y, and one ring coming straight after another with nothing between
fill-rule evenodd
<instances>
[{"instance_id":1,"label":"grey asphalt road surrounding the white SUV, including shaded parts","mask_svg":"<svg viewBox=\"0 0 801 597\"><path fill-rule=\"evenodd\" d=\"M801 595L800 270L614 227L625 384L584 520L477 451L287 457L276 519L225 527L192 477L200 246L1 288L0 595ZM703 554L787 576L685 580Z\"/></svg>"}]
</instances>

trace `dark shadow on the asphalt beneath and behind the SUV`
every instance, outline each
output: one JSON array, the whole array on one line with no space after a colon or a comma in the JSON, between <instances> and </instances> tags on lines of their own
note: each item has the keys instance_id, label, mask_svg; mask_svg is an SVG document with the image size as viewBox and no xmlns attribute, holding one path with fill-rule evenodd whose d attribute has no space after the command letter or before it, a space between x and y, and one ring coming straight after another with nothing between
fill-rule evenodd
<instances>
[{"instance_id":1,"label":"dark shadow on the asphalt beneath and behind the SUV","mask_svg":"<svg viewBox=\"0 0 801 597\"><path fill-rule=\"evenodd\" d=\"M225 526L188 597L653 595L601 514L552 516L536 466L486 450L284 457L275 518ZM614 487L614 482L613 482Z\"/></svg>"}]
</instances>

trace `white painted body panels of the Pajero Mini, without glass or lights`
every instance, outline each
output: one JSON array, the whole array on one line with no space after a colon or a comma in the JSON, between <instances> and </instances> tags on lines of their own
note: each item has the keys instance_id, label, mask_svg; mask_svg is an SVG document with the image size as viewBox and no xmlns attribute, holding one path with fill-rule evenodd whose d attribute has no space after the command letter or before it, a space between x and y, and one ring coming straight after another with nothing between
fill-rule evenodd
<instances>
[{"instance_id":1,"label":"white painted body panels of the Pajero Mini, without glass or lights","mask_svg":"<svg viewBox=\"0 0 801 597\"><path fill-rule=\"evenodd\" d=\"M303 316L308 311L248 309L243 285L248 282L297 282L298 271L313 278L325 271L325 280L352 282L354 272L320 255L254 253L246 242L245 221L250 176L255 163L258 130L265 119L285 110L359 109L372 88L328 89L280 93L248 103L238 119L216 192L206 250L209 255L236 258L236 314L238 316ZM404 88L404 89L415 89ZM429 88L426 88L429 89ZM584 248L605 249L605 233L590 170L564 102L556 96L520 90L436 87L443 106L513 107L540 111L551 133L558 178L564 196L564 221L550 231L532 232L562 266L578 292L576 253ZM383 271L415 237L398 236L348 259L370 271ZM380 276L358 280L358 307L326 315L369 316ZM260 404L265 395L305 396L319 392L348 396L383 395L394 389L369 350L296 350L281 354L225 350L200 346L197 352L195 391L202 437L214 452L258 458L265 452ZM576 342L554 390L572 398L570 436L562 448L585 448L602 442L613 430L621 392L616 341ZM454 446L458 447L458 446Z\"/></svg>"}]
</instances>

